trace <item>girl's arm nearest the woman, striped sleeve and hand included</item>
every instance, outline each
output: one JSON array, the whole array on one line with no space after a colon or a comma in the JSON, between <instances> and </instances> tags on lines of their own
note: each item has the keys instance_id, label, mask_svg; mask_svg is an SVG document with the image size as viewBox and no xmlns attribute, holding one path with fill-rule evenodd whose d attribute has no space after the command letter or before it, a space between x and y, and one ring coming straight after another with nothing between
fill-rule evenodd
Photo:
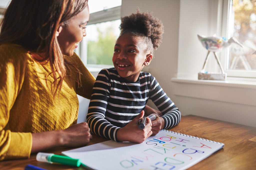
<instances>
[{"instance_id":1,"label":"girl's arm nearest the woman, striped sleeve and hand included","mask_svg":"<svg viewBox=\"0 0 256 170\"><path fill-rule=\"evenodd\" d=\"M88 108L87 122L91 132L115 141L141 143L152 134L151 121L148 119L148 123L144 130L138 128L138 120L143 117L143 111L123 128L111 124L105 119L105 112L110 97L110 89L111 82L109 71L103 69L96 78Z\"/></svg>"}]
</instances>

